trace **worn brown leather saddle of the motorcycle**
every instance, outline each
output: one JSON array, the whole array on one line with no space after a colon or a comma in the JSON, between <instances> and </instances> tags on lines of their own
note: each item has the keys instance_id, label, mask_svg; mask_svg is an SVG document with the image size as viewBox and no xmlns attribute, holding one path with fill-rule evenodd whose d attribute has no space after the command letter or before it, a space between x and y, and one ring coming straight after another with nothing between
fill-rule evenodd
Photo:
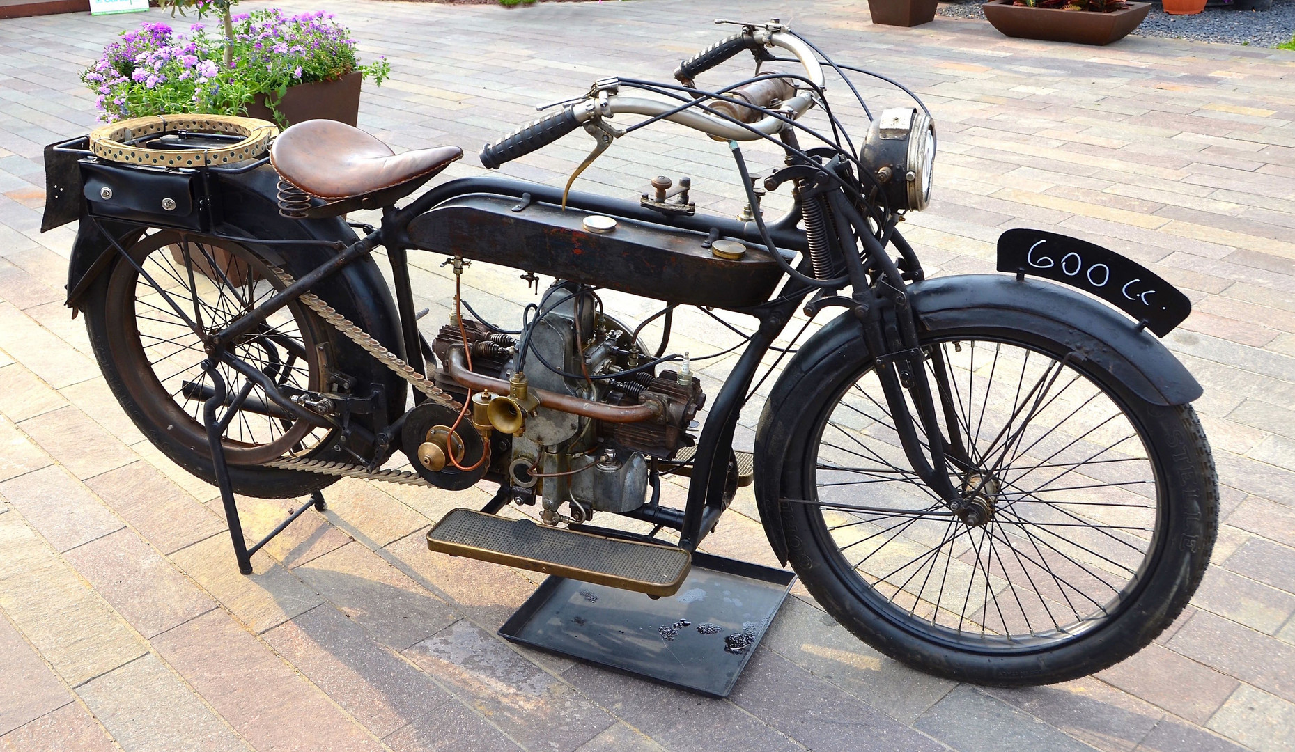
<instances>
[{"instance_id":1,"label":"worn brown leather saddle of the motorcycle","mask_svg":"<svg viewBox=\"0 0 1295 752\"><path fill-rule=\"evenodd\" d=\"M396 154L376 137L335 120L306 120L284 131L269 150L278 176L307 195L304 216L391 206L462 158L458 146Z\"/></svg>"}]
</instances>

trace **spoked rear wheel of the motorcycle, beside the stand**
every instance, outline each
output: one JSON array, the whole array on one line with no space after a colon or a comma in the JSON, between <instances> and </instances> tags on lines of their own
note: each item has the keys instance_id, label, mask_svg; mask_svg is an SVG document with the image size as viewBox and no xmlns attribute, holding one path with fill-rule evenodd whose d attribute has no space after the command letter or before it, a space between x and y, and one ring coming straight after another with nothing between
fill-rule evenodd
<instances>
[{"instance_id":1,"label":"spoked rear wheel of the motorcycle, beside the stand","mask_svg":"<svg viewBox=\"0 0 1295 752\"><path fill-rule=\"evenodd\" d=\"M190 322L205 334L219 331L284 285L262 259L229 241L152 232L128 254L135 264L118 260L85 307L100 369L140 431L177 465L214 483L202 423L212 383L201 368L206 352ZM322 346L330 337L294 302L237 342L234 353L281 387L326 391ZM231 395L246 383L229 366L218 368ZM277 498L326 487L335 479L255 465L317 456L334 439L332 428L293 418L273 406L260 386L253 387L224 434L234 491Z\"/></svg>"}]
</instances>

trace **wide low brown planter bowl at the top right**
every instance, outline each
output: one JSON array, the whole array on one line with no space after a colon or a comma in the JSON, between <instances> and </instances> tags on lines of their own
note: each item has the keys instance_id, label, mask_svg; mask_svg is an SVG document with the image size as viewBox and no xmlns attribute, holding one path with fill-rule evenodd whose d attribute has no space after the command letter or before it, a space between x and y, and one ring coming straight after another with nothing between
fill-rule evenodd
<instances>
[{"instance_id":1,"label":"wide low brown planter bowl at the top right","mask_svg":"<svg viewBox=\"0 0 1295 752\"><path fill-rule=\"evenodd\" d=\"M1204 0L1199 1L1204 3ZM1011 0L992 0L984 4L984 17L1002 34L1019 39L1110 44L1124 39L1151 12L1150 3L1129 3L1129 8L1114 13L1092 13L1088 10L1027 8L1013 5Z\"/></svg>"}]
</instances>

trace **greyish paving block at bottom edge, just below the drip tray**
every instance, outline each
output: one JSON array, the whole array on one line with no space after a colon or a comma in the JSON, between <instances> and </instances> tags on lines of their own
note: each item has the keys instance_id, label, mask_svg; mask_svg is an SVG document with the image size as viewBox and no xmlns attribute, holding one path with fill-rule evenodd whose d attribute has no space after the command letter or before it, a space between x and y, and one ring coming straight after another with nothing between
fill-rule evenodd
<instances>
[{"instance_id":1,"label":"greyish paving block at bottom edge, just below the drip tray","mask_svg":"<svg viewBox=\"0 0 1295 752\"><path fill-rule=\"evenodd\" d=\"M728 700L703 698L585 663L562 672L584 696L673 752L803 749Z\"/></svg>"}]
</instances>

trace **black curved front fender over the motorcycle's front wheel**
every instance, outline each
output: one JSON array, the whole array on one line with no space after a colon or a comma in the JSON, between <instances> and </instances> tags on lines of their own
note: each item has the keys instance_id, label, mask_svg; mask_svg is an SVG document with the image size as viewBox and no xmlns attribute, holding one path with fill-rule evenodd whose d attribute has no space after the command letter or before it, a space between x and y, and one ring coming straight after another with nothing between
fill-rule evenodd
<instances>
[{"instance_id":1,"label":"black curved front fender over the motorcycle's front wheel","mask_svg":"<svg viewBox=\"0 0 1295 752\"><path fill-rule=\"evenodd\" d=\"M1110 373L1137 397L1184 405L1202 388L1159 339L1114 308L1068 287L1002 274L939 277L909 286L909 300L926 330L1009 327L1068 344L1089 366ZM769 392L755 435L755 500L765 535L786 562L778 494L786 448L799 414L780 408L798 390L822 388L815 371L829 359L866 357L861 325L843 313L811 337Z\"/></svg>"}]
</instances>

